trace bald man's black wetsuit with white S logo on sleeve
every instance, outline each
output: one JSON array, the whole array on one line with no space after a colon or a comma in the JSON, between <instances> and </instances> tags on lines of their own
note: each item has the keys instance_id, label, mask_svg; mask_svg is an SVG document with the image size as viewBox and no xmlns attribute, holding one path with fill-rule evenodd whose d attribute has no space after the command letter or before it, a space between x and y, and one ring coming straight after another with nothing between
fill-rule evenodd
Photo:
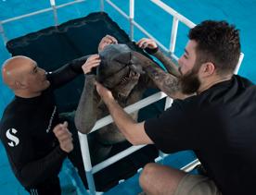
<instances>
[{"instance_id":1,"label":"bald man's black wetsuit with white S logo on sleeve","mask_svg":"<svg viewBox=\"0 0 256 195\"><path fill-rule=\"evenodd\" d=\"M87 56L73 60L48 73L51 85L40 96L15 96L6 106L0 123L0 138L15 176L31 194L60 194L58 173L68 153L60 149L53 133L53 128L61 122L53 91L83 73L81 66L86 59ZM80 148L75 147L73 152L80 152ZM73 164L83 166L82 158L79 161Z\"/></svg>"}]
</instances>

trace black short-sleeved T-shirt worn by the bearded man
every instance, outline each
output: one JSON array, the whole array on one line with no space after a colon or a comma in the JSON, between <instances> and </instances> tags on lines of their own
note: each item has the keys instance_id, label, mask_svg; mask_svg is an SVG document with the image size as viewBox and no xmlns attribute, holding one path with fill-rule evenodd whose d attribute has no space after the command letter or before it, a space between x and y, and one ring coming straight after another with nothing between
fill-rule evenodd
<instances>
[{"instance_id":1,"label":"black short-sleeved T-shirt worn by the bearded man","mask_svg":"<svg viewBox=\"0 0 256 195\"><path fill-rule=\"evenodd\" d=\"M163 152L193 150L223 194L256 194L256 86L239 76L145 123Z\"/></svg>"}]
</instances>

